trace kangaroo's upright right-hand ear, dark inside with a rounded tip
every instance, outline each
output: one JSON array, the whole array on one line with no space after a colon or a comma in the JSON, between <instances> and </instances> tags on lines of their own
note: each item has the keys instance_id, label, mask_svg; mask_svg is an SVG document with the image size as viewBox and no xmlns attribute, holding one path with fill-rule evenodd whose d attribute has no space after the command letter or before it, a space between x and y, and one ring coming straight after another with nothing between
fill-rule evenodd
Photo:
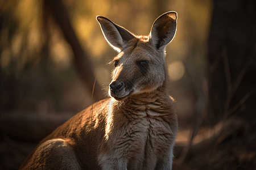
<instances>
[{"instance_id":1,"label":"kangaroo's upright right-hand ear, dark inside with a rounded tip","mask_svg":"<svg viewBox=\"0 0 256 170\"><path fill-rule=\"evenodd\" d=\"M150 39L156 48L166 46L174 38L176 32L177 13L166 12L159 16L150 31Z\"/></svg>"}]
</instances>

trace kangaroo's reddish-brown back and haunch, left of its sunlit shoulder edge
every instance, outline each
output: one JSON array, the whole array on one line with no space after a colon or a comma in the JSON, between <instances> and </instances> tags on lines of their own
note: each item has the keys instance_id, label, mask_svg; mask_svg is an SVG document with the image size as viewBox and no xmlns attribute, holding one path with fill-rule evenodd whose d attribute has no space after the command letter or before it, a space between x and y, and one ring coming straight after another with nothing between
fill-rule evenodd
<instances>
[{"instance_id":1,"label":"kangaroo's reddish-brown back and haunch, left of its sunlit shoulder edge","mask_svg":"<svg viewBox=\"0 0 256 170\"><path fill-rule=\"evenodd\" d=\"M108 108L106 106L109 101L110 99L98 101L93 104L93 111L92 107L88 107L59 126L36 146L20 168L65 169L78 163L83 168L99 169L96 155L98 155L99 143L102 142L105 134L105 115ZM54 149L56 154L52 154ZM80 156L76 158L75 155ZM63 157L61 159L66 163L55 162L47 165L46 156L49 160L52 159L53 163ZM65 156L72 159L68 161L69 158ZM75 168L71 169L81 169L80 166L74 166Z\"/></svg>"}]
</instances>

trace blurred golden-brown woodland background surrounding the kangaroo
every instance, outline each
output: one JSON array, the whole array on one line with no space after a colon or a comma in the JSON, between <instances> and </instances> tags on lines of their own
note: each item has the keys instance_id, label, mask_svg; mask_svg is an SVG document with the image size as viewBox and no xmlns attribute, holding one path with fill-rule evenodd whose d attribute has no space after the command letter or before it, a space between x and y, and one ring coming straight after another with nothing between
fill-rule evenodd
<instances>
[{"instance_id":1,"label":"blurred golden-brown woodland background surrounding the kangaroo","mask_svg":"<svg viewBox=\"0 0 256 170\"><path fill-rule=\"evenodd\" d=\"M0 169L17 169L42 138L107 97L117 53L97 15L148 35L167 11L178 13L166 49L180 125L174 169L254 169L253 0L0 1Z\"/></svg>"}]
</instances>

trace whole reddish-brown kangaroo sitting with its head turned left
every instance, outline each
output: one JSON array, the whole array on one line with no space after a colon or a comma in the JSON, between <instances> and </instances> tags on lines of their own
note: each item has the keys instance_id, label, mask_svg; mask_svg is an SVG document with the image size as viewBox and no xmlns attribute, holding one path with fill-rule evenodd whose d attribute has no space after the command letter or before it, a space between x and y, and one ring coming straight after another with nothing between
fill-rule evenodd
<instances>
[{"instance_id":1,"label":"whole reddish-brown kangaroo sitting with its head turned left","mask_svg":"<svg viewBox=\"0 0 256 170\"><path fill-rule=\"evenodd\" d=\"M20 169L172 169L177 115L167 92L165 49L176 32L176 12L159 16L148 36L96 19L118 52L110 98L59 126Z\"/></svg>"}]
</instances>

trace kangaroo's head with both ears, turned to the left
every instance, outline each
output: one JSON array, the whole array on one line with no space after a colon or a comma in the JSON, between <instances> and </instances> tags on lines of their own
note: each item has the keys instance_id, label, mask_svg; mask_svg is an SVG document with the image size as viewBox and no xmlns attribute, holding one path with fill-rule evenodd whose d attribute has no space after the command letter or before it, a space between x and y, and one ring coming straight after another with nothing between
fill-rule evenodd
<instances>
[{"instance_id":1,"label":"kangaroo's head with both ears, turned to the left","mask_svg":"<svg viewBox=\"0 0 256 170\"><path fill-rule=\"evenodd\" d=\"M152 25L148 36L135 36L103 16L97 16L106 41L119 53L109 95L123 100L130 95L151 92L167 82L165 49L176 32L176 12L166 12Z\"/></svg>"}]
</instances>

